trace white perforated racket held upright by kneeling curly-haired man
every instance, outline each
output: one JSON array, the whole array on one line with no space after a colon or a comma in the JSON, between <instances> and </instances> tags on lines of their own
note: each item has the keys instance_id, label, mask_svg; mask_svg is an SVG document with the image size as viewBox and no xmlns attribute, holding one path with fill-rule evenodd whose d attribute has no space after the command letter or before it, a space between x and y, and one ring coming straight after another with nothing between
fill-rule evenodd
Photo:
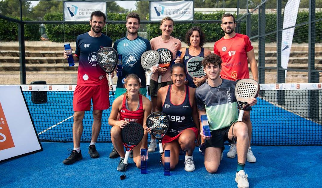
<instances>
[{"instance_id":1,"label":"white perforated racket held upright by kneeling curly-haired man","mask_svg":"<svg viewBox=\"0 0 322 188\"><path fill-rule=\"evenodd\" d=\"M235 96L237 99L238 106L240 108L238 121L242 121L244 110L249 106L247 99L257 97L260 91L258 82L253 79L241 79L236 83Z\"/></svg>"}]
</instances>

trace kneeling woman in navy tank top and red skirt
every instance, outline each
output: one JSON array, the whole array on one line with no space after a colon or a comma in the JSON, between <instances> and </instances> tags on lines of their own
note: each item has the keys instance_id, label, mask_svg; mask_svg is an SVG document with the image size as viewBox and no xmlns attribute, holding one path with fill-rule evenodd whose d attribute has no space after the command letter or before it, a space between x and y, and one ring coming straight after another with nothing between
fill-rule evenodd
<instances>
[{"instance_id":1,"label":"kneeling woman in navy tank top and red skirt","mask_svg":"<svg viewBox=\"0 0 322 188\"><path fill-rule=\"evenodd\" d=\"M174 169L179 161L180 148L185 153L185 170L194 171L192 153L200 144L199 118L194 100L195 89L184 84L185 66L181 63L171 67L173 84L161 87L158 91L156 111L169 116L169 129L162 139L163 149L170 150L170 169ZM197 144L195 143L197 140ZM162 156L164 163L164 154Z\"/></svg>"}]
</instances>

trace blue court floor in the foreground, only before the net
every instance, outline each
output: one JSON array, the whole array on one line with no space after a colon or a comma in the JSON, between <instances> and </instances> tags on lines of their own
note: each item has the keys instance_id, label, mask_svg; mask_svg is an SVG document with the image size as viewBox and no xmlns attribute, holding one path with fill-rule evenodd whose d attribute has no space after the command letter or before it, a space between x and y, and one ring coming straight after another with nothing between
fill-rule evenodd
<instances>
[{"instance_id":1,"label":"blue court floor in the foreground, only before the net","mask_svg":"<svg viewBox=\"0 0 322 188\"><path fill-rule=\"evenodd\" d=\"M170 176L164 176L159 166L159 153L149 153L148 172L129 159L126 179L120 180L116 167L119 158L110 159L111 143L97 143L100 157L90 158L89 143L81 143L83 159L71 165L62 161L68 156L72 143L42 142L43 151L0 163L1 187L237 187L235 172L237 157L226 157L217 173L208 173L204 157L195 149L196 169L184 170L184 156ZM256 163L245 165L250 187L321 187L322 146L252 146Z\"/></svg>"}]
</instances>

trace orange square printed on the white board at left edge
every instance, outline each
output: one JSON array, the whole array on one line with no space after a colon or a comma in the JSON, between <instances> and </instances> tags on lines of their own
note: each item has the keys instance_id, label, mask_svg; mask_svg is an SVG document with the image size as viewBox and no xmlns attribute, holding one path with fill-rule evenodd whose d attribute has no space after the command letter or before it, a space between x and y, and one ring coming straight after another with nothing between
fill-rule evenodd
<instances>
[{"instance_id":1,"label":"orange square printed on the white board at left edge","mask_svg":"<svg viewBox=\"0 0 322 188\"><path fill-rule=\"evenodd\" d=\"M12 140L9 126L5 119L5 113L0 103L0 151L12 147L14 147L14 141Z\"/></svg>"}]
</instances>

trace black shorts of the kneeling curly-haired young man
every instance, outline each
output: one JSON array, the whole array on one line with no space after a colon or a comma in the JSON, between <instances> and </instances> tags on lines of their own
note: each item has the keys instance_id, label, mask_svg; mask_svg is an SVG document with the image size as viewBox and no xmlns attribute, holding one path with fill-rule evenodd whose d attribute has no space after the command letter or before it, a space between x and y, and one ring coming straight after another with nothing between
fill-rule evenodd
<instances>
[{"instance_id":1,"label":"black shorts of the kneeling curly-haired young man","mask_svg":"<svg viewBox=\"0 0 322 188\"><path fill-rule=\"evenodd\" d=\"M206 148L207 147L218 147L222 148L222 152L225 149L224 143L225 141L228 141L229 143L232 143L232 140L229 140L228 138L228 132L231 126L233 126L236 122L233 122L230 126L214 130L210 132L212 137L210 140L207 140L205 143Z\"/></svg>"}]
</instances>

